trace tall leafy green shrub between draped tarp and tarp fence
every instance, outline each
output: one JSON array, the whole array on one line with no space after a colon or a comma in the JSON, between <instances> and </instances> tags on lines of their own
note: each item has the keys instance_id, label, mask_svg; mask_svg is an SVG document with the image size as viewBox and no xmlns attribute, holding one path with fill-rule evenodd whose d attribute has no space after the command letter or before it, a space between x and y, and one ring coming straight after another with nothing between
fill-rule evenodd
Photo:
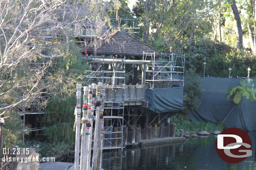
<instances>
[{"instance_id":1,"label":"tall leafy green shrub between draped tarp and tarp fence","mask_svg":"<svg viewBox=\"0 0 256 170\"><path fill-rule=\"evenodd\" d=\"M193 69L188 70L184 84L184 111L197 109L201 102L201 81Z\"/></svg>"}]
</instances>

